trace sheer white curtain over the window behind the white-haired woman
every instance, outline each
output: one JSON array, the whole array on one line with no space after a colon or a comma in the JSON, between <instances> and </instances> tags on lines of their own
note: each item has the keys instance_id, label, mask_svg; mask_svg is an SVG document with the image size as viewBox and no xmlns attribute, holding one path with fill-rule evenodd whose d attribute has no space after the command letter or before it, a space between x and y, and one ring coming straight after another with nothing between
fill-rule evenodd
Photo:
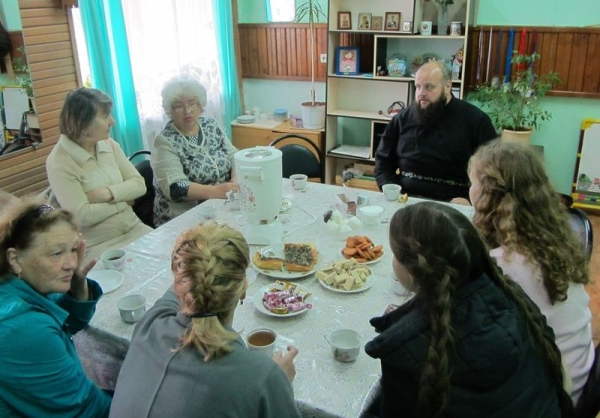
<instances>
[{"instance_id":1,"label":"sheer white curtain over the window behind the white-haired woman","mask_svg":"<svg viewBox=\"0 0 600 418\"><path fill-rule=\"evenodd\" d=\"M223 126L212 0L123 0L122 5L145 148L152 148L168 120L160 90L180 73L199 78L208 94L204 115Z\"/></svg>"}]
</instances>

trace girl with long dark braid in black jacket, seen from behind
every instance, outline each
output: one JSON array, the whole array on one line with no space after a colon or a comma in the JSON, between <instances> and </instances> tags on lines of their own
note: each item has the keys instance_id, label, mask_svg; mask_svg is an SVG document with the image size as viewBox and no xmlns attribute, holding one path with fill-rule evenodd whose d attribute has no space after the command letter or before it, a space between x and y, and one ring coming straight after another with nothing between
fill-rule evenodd
<instances>
[{"instance_id":1,"label":"girl with long dark braid in black jacket, seen from behind","mask_svg":"<svg viewBox=\"0 0 600 418\"><path fill-rule=\"evenodd\" d=\"M560 417L563 389L552 331L502 276L470 221L422 202L390 223L392 266L415 297L371 319L366 352L381 361L381 417Z\"/></svg>"}]
</instances>

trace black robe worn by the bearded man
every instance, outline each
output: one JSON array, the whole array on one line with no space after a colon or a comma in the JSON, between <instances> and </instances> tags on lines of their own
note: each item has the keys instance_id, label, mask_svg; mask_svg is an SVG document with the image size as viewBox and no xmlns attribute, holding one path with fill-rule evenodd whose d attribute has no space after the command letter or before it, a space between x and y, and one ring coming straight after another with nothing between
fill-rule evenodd
<instances>
[{"instance_id":1,"label":"black robe worn by the bearded man","mask_svg":"<svg viewBox=\"0 0 600 418\"><path fill-rule=\"evenodd\" d=\"M463 100L451 98L442 116L427 126L418 122L416 105L395 115L375 153L375 177L402 186L402 193L436 200L469 196L467 163L482 144L496 138L487 114ZM396 175L396 169L459 185Z\"/></svg>"}]
</instances>

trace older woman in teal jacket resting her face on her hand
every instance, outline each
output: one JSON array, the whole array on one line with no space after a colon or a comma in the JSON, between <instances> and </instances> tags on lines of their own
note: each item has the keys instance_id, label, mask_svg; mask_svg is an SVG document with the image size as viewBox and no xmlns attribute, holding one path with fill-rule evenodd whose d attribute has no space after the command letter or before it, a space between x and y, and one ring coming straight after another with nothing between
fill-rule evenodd
<instances>
[{"instance_id":1,"label":"older woman in teal jacket resting her face on her hand","mask_svg":"<svg viewBox=\"0 0 600 418\"><path fill-rule=\"evenodd\" d=\"M0 416L105 417L111 398L90 381L71 336L102 295L80 266L73 216L19 203L0 220Z\"/></svg>"}]
</instances>

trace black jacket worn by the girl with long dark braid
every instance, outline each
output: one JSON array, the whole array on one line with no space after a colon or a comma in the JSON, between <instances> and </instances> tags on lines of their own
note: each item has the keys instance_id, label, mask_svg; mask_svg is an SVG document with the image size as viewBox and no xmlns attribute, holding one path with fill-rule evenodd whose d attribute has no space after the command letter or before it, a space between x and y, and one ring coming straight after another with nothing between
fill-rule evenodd
<instances>
[{"instance_id":1,"label":"black jacket worn by the girl with long dark braid","mask_svg":"<svg viewBox=\"0 0 600 418\"><path fill-rule=\"evenodd\" d=\"M365 347L381 360L377 413L414 417L431 333L427 312L413 299L371 324L382 331ZM523 315L489 277L483 275L460 291L452 324L456 352L449 358L448 416L560 416L556 388L533 350Z\"/></svg>"}]
</instances>

